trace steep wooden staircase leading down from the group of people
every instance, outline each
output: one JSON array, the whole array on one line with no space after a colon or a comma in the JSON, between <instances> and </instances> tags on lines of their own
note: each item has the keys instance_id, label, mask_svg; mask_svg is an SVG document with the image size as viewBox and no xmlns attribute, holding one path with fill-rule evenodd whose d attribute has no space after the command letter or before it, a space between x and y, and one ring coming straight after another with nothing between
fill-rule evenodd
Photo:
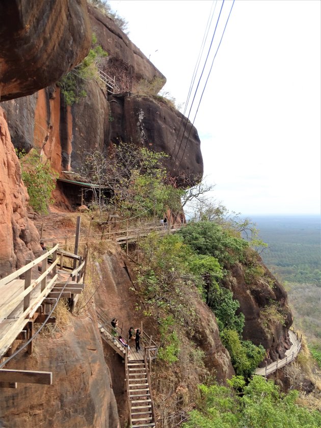
<instances>
[{"instance_id":1,"label":"steep wooden staircase leading down from the group of people","mask_svg":"<svg viewBox=\"0 0 321 428\"><path fill-rule=\"evenodd\" d=\"M125 359L129 423L131 428L156 428L147 358L148 354L144 349L143 361L128 361L127 358Z\"/></svg>"}]
</instances>

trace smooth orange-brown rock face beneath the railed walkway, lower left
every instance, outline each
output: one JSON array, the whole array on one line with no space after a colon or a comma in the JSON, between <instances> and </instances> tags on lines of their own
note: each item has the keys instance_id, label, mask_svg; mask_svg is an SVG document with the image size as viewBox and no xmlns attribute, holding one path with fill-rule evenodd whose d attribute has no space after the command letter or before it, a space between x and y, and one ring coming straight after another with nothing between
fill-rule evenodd
<instances>
[{"instance_id":1,"label":"smooth orange-brown rock face beneath the railed walkway, lower left","mask_svg":"<svg viewBox=\"0 0 321 428\"><path fill-rule=\"evenodd\" d=\"M0 426L120 428L110 373L93 320L71 318L56 337L38 336L32 356L6 368L52 371L52 385L1 389Z\"/></svg>"}]
</instances>

